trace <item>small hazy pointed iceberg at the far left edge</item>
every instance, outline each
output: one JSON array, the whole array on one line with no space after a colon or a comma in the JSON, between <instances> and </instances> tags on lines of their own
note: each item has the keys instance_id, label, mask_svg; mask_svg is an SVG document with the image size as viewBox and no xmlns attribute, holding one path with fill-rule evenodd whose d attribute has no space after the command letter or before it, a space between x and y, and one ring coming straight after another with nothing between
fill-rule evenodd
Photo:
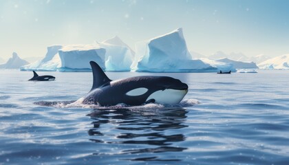
<instances>
[{"instance_id":1,"label":"small hazy pointed iceberg at the far left edge","mask_svg":"<svg viewBox=\"0 0 289 165\"><path fill-rule=\"evenodd\" d=\"M6 63L0 64L1 69L19 69L19 67L23 65L28 65L29 63L23 59L21 59L17 53L13 52L12 58Z\"/></svg>"}]
</instances>

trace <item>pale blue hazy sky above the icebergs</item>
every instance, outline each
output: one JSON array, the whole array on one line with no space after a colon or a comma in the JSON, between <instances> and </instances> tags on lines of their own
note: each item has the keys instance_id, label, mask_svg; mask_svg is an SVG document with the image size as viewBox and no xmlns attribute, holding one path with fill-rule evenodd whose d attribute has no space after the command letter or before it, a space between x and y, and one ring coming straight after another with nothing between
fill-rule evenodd
<instances>
[{"instance_id":1,"label":"pale blue hazy sky above the icebergs","mask_svg":"<svg viewBox=\"0 0 289 165\"><path fill-rule=\"evenodd\" d=\"M44 56L47 45L137 41L183 28L189 50L289 53L286 0L0 0L0 56Z\"/></svg>"}]
</instances>

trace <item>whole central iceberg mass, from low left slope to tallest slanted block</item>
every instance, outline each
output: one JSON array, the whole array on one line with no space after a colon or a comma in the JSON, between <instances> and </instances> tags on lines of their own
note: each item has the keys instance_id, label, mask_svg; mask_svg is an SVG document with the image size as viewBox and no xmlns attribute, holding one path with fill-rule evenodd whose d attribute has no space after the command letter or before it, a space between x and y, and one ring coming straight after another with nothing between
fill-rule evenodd
<instances>
[{"instance_id":1,"label":"whole central iceberg mass, from low left slope to tallest slanted block","mask_svg":"<svg viewBox=\"0 0 289 165\"><path fill-rule=\"evenodd\" d=\"M148 41L136 43L136 53L118 36L90 45L52 45L41 61L21 70L85 72L89 61L106 71L136 72L218 72L235 68L231 63L193 59L186 47L182 28Z\"/></svg>"}]
</instances>

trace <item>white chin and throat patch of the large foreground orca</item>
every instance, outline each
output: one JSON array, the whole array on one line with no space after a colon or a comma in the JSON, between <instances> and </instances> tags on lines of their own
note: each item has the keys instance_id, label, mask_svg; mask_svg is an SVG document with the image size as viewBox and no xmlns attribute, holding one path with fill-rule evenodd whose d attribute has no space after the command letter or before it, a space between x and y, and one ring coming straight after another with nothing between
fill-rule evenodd
<instances>
[{"instance_id":1,"label":"white chin and throat patch of the large foreground orca","mask_svg":"<svg viewBox=\"0 0 289 165\"><path fill-rule=\"evenodd\" d=\"M184 96L188 93L188 89L186 90L178 90L178 89L164 89L163 91L155 91L153 94L147 98L148 100L154 99L156 103L159 104L178 104L184 98Z\"/></svg>"}]
</instances>

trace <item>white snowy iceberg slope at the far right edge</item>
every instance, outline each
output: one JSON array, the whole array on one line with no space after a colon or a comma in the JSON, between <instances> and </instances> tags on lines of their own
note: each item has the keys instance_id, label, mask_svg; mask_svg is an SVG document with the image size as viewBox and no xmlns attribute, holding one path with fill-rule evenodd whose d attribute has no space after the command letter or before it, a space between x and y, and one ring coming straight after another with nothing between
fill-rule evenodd
<instances>
[{"instance_id":1,"label":"white snowy iceberg slope at the far right edge","mask_svg":"<svg viewBox=\"0 0 289 165\"><path fill-rule=\"evenodd\" d=\"M270 58L267 61L258 64L260 69L279 69L288 70L289 69L289 54L284 54L277 56L275 58Z\"/></svg>"}]
</instances>

